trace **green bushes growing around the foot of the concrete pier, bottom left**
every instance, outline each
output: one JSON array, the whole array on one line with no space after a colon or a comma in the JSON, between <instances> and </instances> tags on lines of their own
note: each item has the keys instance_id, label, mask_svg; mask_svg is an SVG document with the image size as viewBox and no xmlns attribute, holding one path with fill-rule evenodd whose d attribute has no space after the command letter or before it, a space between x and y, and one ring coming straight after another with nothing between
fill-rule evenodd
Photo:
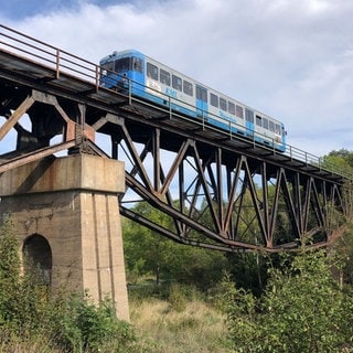
<instances>
[{"instance_id":1,"label":"green bushes growing around the foot of the concrete pier, bottom left","mask_svg":"<svg viewBox=\"0 0 353 353\"><path fill-rule=\"evenodd\" d=\"M41 270L31 267L32 271L21 274L19 243L10 224L4 224L0 234L1 351L18 352L14 346L41 341L45 345L38 352L140 352L133 330L116 318L111 301L96 306L87 296L52 296Z\"/></svg>"}]
</instances>

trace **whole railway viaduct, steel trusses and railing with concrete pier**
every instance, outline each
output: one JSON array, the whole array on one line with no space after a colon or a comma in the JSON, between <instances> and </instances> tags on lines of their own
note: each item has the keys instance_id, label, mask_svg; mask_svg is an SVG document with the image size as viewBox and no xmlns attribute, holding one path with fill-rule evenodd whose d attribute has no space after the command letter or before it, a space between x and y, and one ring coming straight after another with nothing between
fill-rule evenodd
<instances>
[{"instance_id":1,"label":"whole railway viaduct, steel trusses and railing with concrete pier","mask_svg":"<svg viewBox=\"0 0 353 353\"><path fill-rule=\"evenodd\" d=\"M108 295L121 319L120 214L181 244L282 252L327 246L347 212L344 171L105 89L97 65L4 25L0 119L1 223L54 288ZM133 212L137 202L173 226Z\"/></svg>"}]
</instances>

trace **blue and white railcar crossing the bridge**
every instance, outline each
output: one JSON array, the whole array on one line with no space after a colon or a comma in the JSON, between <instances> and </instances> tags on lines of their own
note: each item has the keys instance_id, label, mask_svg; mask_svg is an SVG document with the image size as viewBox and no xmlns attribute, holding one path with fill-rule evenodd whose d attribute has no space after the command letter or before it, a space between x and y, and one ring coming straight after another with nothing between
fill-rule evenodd
<instances>
[{"instance_id":1,"label":"blue and white railcar crossing the bridge","mask_svg":"<svg viewBox=\"0 0 353 353\"><path fill-rule=\"evenodd\" d=\"M128 50L100 62L100 84L189 116L232 135L286 150L282 122L212 89L146 55Z\"/></svg>"}]
</instances>

